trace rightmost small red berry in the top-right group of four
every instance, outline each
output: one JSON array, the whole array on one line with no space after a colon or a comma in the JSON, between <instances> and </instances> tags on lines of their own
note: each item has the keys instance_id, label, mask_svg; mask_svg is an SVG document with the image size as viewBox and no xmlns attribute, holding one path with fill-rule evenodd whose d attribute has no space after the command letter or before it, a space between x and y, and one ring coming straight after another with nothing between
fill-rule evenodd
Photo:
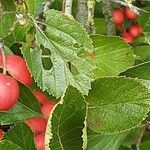
<instances>
[{"instance_id":1,"label":"rightmost small red berry in the top-right group of four","mask_svg":"<svg viewBox=\"0 0 150 150\"><path fill-rule=\"evenodd\" d=\"M142 28L140 27L140 25L136 24L136 25L132 25L129 28L129 33L133 36L133 37L138 37L141 33L142 33Z\"/></svg>"}]
</instances>

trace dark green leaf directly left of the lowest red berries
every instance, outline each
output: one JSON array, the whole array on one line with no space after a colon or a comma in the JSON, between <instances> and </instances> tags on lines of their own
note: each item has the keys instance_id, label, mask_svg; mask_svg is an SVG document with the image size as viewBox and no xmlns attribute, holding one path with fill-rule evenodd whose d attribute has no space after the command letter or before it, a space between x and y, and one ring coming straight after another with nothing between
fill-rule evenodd
<instances>
[{"instance_id":1,"label":"dark green leaf directly left of the lowest red berries","mask_svg":"<svg viewBox=\"0 0 150 150\"><path fill-rule=\"evenodd\" d=\"M18 145L22 150L36 150L33 133L25 123L16 124L4 138Z\"/></svg>"}]
</instances>

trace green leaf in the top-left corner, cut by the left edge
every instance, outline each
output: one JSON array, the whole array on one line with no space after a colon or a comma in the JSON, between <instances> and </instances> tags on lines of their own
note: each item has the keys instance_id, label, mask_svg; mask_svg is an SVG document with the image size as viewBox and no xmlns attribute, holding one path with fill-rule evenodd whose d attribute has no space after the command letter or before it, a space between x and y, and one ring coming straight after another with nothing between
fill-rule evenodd
<instances>
[{"instance_id":1,"label":"green leaf in the top-left corner, cut by the left edge","mask_svg":"<svg viewBox=\"0 0 150 150\"><path fill-rule=\"evenodd\" d=\"M13 31L16 8L13 1L0 0L0 4L0 37L3 38Z\"/></svg>"}]
</instances>

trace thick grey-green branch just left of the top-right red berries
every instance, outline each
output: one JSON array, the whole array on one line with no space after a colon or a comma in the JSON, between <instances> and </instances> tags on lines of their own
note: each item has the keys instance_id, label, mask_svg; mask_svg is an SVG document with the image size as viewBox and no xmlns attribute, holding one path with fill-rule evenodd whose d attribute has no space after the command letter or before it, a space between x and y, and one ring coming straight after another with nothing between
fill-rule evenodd
<instances>
[{"instance_id":1,"label":"thick grey-green branch just left of the top-right red berries","mask_svg":"<svg viewBox=\"0 0 150 150\"><path fill-rule=\"evenodd\" d=\"M103 14L107 26L108 35L116 35L115 25L112 17L111 0L102 0Z\"/></svg>"}]
</instances>

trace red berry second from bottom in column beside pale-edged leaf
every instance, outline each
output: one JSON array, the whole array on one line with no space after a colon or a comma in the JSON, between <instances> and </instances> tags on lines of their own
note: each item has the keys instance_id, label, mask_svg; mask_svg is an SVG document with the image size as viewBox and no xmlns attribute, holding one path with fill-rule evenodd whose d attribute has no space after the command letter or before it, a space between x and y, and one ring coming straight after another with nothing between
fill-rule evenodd
<instances>
[{"instance_id":1,"label":"red berry second from bottom in column beside pale-edged leaf","mask_svg":"<svg viewBox=\"0 0 150 150\"><path fill-rule=\"evenodd\" d=\"M41 134L46 131L47 120L45 118L35 117L27 120L26 124L30 127L33 133Z\"/></svg>"}]
</instances>

